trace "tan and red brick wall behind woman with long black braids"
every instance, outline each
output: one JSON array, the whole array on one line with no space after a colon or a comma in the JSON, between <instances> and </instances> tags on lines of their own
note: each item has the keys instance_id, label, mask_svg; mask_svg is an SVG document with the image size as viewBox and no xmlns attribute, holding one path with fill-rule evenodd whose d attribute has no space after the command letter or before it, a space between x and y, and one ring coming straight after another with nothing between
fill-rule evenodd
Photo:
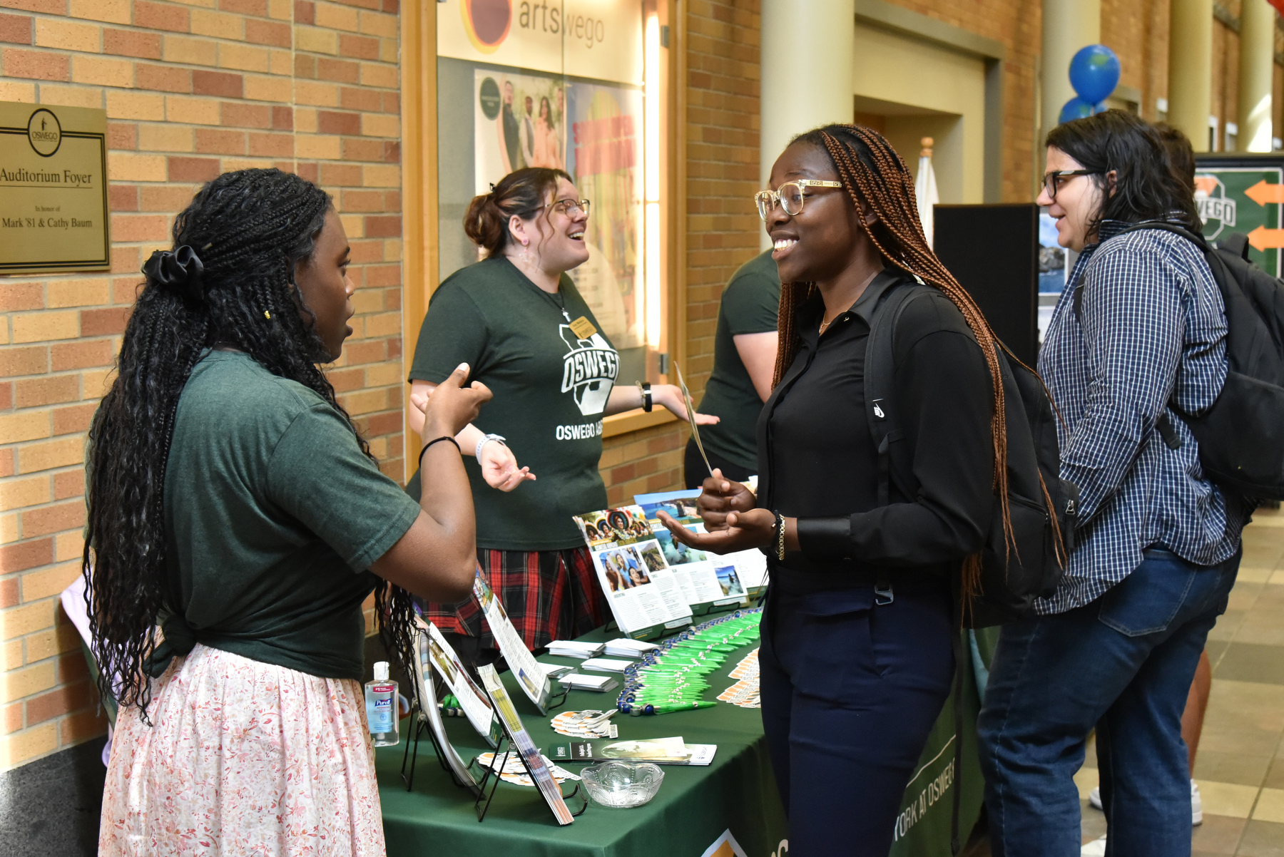
<instances>
[{"instance_id":1,"label":"tan and red brick wall behind woman with long black braids","mask_svg":"<svg viewBox=\"0 0 1284 857\"><path fill-rule=\"evenodd\" d=\"M0 770L104 730L76 630L85 431L139 267L220 172L329 190L358 316L330 373L402 476L397 0L0 0L0 100L101 108L112 272L0 277Z\"/></svg>"}]
</instances>

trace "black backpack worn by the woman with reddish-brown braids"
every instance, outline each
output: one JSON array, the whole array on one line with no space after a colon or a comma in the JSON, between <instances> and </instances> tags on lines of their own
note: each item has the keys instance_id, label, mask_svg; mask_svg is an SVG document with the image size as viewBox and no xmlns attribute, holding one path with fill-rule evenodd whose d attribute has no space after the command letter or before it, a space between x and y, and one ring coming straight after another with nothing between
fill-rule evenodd
<instances>
[{"instance_id":1,"label":"black backpack worn by the woman with reddish-brown braids","mask_svg":"<svg viewBox=\"0 0 1284 857\"><path fill-rule=\"evenodd\" d=\"M889 289L874 308L865 345L865 414L878 450L878 503L889 502L896 482L904 496L918 493L907 462L895 462L890 440L899 434L892 380L892 337L900 314L913 300L949 300L939 289L905 281ZM951 304L953 305L953 304ZM1079 489L1062 481L1055 413L1031 369L999 349L1008 427L1008 511L1012 539L994 498L990 534L981 553L981 591L962 604L967 627L1003 625L1028 616L1037 597L1057 590L1066 557L1075 547Z\"/></svg>"}]
</instances>

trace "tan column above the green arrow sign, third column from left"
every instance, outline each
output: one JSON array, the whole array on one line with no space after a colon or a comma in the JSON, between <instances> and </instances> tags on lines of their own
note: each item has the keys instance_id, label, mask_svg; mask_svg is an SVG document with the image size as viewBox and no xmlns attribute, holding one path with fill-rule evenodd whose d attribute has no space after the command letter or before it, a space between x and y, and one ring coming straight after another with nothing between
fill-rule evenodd
<instances>
[{"instance_id":1,"label":"tan column above the green arrow sign, third column from left","mask_svg":"<svg viewBox=\"0 0 1284 857\"><path fill-rule=\"evenodd\" d=\"M1168 24L1168 124L1208 151L1212 106L1212 0L1172 0Z\"/></svg>"}]
</instances>

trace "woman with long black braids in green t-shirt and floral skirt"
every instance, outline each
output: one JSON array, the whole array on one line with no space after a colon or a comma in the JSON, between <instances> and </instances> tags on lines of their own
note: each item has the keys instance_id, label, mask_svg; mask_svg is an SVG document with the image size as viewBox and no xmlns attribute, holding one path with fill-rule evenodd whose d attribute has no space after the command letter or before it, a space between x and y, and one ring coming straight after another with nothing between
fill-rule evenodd
<instances>
[{"instance_id":1,"label":"woman with long black braids in green t-shirt and floral skirt","mask_svg":"<svg viewBox=\"0 0 1284 857\"><path fill-rule=\"evenodd\" d=\"M352 332L347 268L330 198L277 169L205 185L144 266L90 430L89 615L121 712L100 854L384 853L361 603L408 663L411 593L469 591L453 435L489 391L461 366L416 402L407 498L317 366Z\"/></svg>"}]
</instances>

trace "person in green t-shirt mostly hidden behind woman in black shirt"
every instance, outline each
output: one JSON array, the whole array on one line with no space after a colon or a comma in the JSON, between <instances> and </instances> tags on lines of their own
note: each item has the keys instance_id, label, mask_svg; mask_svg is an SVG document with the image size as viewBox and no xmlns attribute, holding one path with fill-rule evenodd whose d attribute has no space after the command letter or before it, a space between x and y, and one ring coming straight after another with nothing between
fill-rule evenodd
<instances>
[{"instance_id":1,"label":"person in green t-shirt mostly hidden behind woman in black shirt","mask_svg":"<svg viewBox=\"0 0 1284 857\"><path fill-rule=\"evenodd\" d=\"M700 431L711 467L723 476L745 481L758 472L758 414L772 394L776 371L776 318L781 303L781 275L767 250L732 275L718 305L714 334L714 371L705 385L700 413L722 421ZM705 467L695 437L687 441L687 488L700 488Z\"/></svg>"}]
</instances>

